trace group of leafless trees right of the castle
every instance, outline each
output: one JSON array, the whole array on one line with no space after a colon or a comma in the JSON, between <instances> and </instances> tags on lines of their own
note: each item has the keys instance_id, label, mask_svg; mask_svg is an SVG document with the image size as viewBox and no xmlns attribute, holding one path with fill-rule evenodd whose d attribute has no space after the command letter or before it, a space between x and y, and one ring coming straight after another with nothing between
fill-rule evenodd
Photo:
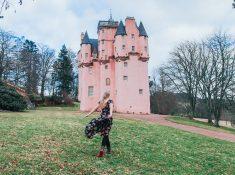
<instances>
[{"instance_id":1,"label":"group of leafless trees right of the castle","mask_svg":"<svg viewBox=\"0 0 235 175\"><path fill-rule=\"evenodd\" d=\"M184 113L196 117L203 108L200 117L208 118L209 123L214 119L219 126L223 112L235 109L234 38L216 32L200 42L178 44L169 61L153 72L151 101L152 109L158 109L153 112L169 113L178 103L178 107L184 106Z\"/></svg>"}]
</instances>

